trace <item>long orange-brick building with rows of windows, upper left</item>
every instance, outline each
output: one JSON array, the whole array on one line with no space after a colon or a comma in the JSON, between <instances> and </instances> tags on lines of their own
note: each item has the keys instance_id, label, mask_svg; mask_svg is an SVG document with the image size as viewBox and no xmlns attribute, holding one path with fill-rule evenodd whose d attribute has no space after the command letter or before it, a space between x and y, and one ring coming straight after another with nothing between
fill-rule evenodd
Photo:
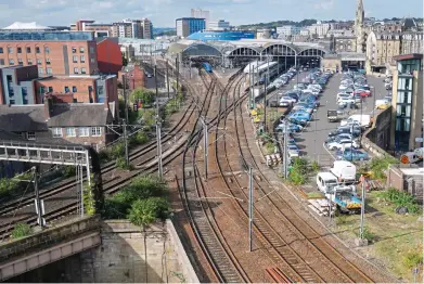
<instances>
[{"instance_id":1,"label":"long orange-brick building with rows of windows, upper left","mask_svg":"<svg viewBox=\"0 0 424 284\"><path fill-rule=\"evenodd\" d=\"M38 66L39 76L95 74L91 31L0 31L0 67Z\"/></svg>"}]
</instances>

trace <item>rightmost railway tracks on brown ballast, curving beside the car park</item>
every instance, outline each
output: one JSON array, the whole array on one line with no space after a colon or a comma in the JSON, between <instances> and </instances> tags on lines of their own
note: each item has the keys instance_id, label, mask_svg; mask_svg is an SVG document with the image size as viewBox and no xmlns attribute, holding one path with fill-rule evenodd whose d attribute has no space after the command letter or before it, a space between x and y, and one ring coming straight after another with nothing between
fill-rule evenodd
<instances>
[{"instance_id":1,"label":"rightmost railway tracks on brown ballast, curving beside the car park","mask_svg":"<svg viewBox=\"0 0 424 284\"><path fill-rule=\"evenodd\" d=\"M240 91L234 92L234 96L235 93L240 94ZM233 100L235 100L235 98L233 98ZM283 235L277 232L267 220L269 219L269 215L265 218L259 208L255 207L254 224L260 235L258 238L262 238L262 241L264 238L267 240L268 243L280 253L280 256L285 258L285 262L295 271L295 273L293 273L293 271L291 271L292 269L287 271L284 270L288 277L296 282L372 282L368 275L344 258L336 249L327 244L313 228L307 224L293 209L291 209L290 204L281 197L269 195L273 190L273 186L260 171L260 167L256 164L254 154L248 146L244 126L244 120L248 119L248 117L244 117L243 119L241 105L239 105L237 108L234 108L233 112L235 137L243 163L245 165L249 164L257 169L257 175L254 179L258 192L261 192L262 198L267 198L268 205L272 205L272 210L278 212L277 217L279 221L283 221L284 231L290 232L290 234L284 234L283 237ZM240 115L237 115L237 113L240 113ZM227 155L226 140L224 151L228 166L230 167L230 170L232 170ZM234 179L239 183L237 177L234 176ZM239 183L239 188L242 188L240 185L241 184ZM267 191L266 189L271 189L271 191ZM239 192L244 193L244 191ZM245 193L244 198L247 198ZM244 212L247 212L247 208L244 208ZM275 258L275 254L272 250L270 253L271 256ZM298 279L299 276L300 279Z\"/></svg>"}]
</instances>

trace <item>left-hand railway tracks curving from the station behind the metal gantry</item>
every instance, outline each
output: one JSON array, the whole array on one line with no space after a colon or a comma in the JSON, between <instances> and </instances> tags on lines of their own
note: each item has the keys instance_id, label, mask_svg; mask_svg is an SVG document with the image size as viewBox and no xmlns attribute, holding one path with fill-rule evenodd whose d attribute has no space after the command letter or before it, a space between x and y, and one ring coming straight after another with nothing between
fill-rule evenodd
<instances>
[{"instance_id":1,"label":"left-hand railway tracks curving from the station behind the metal gantry","mask_svg":"<svg viewBox=\"0 0 424 284\"><path fill-rule=\"evenodd\" d=\"M205 83L206 80L204 81ZM213 82L210 82L209 88L211 87ZM208 88L208 89L209 89ZM194 92L193 92L194 93ZM205 102L206 98L203 100ZM190 103L190 107L194 105L194 101ZM172 128L172 131L169 131L167 133L167 138L163 140L163 143L167 143L172 139L172 134L177 134L180 131L182 131L189 124L192 118L192 114L196 113L193 109L187 108L182 118L179 120L178 124ZM139 165L149 165L145 167L142 167L139 170L131 171L129 173L115 176L115 177L105 177L108 172L115 169L114 166L107 164L102 168L102 179L103 179L103 191L105 194L113 194L117 192L121 186L128 184L130 180L140 175L140 173L153 173L157 167L156 164L152 163L156 159L155 153L153 150L156 149L155 142L152 142L147 144L146 146L142 147L139 152L131 153L130 160L136 162L140 157L143 157L143 160L139 163ZM165 144L166 145L166 144ZM179 146L174 147L171 153L169 155L164 156L164 166L167 166L172 162L175 158L177 158L180 154L183 152L184 144L181 143ZM166 147L165 147L166 149ZM165 150L166 152L166 150ZM48 208L47 212L44 214L46 221L53 221L55 219L59 219L63 216L69 215L72 212L75 212L78 206L78 202L76 199L76 181L70 179L69 181L65 181L60 186L53 188L51 190L46 190L40 193L40 198L44 199L44 202L50 201L62 201L57 202L55 205L59 206L46 206ZM20 206L20 208L16 208ZM14 225L18 222L26 222L30 225L36 225L36 214L34 206L34 196L28 196L22 201L17 201L14 203L10 203L7 206L3 206L0 210L0 218L3 217L8 222L3 223L3 227L0 229L0 240L5 240L10 236L10 232L13 230ZM53 207L53 208L52 208ZM57 208L54 208L57 207ZM22 212L15 214L17 210L23 210ZM14 219L10 220L11 217L15 217Z\"/></svg>"}]
</instances>

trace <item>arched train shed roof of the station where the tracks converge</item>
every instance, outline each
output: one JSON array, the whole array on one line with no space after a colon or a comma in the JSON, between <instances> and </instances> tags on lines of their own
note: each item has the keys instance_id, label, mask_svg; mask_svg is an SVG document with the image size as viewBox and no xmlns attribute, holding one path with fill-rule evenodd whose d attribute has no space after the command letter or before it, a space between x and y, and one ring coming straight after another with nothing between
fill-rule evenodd
<instances>
[{"instance_id":1,"label":"arched train shed roof of the station where the tracks converge","mask_svg":"<svg viewBox=\"0 0 424 284\"><path fill-rule=\"evenodd\" d=\"M181 39L169 46L168 53L205 56L323 56L330 53L313 42L288 42L278 39L241 39L234 41L198 41Z\"/></svg>"}]
</instances>

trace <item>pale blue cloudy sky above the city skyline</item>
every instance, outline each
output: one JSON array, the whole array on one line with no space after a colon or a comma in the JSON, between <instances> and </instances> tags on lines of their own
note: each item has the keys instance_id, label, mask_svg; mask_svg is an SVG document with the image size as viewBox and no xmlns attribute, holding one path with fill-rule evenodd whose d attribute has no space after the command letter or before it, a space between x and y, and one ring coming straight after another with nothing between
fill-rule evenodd
<instances>
[{"instance_id":1,"label":"pale blue cloudy sky above the city skyline","mask_svg":"<svg viewBox=\"0 0 424 284\"><path fill-rule=\"evenodd\" d=\"M278 20L354 20L357 0L0 0L0 27L14 22L44 26L69 25L78 20L98 23L149 17L155 27L174 27L191 8L210 11L211 20L231 25ZM363 0L365 16L423 16L423 0Z\"/></svg>"}]
</instances>

